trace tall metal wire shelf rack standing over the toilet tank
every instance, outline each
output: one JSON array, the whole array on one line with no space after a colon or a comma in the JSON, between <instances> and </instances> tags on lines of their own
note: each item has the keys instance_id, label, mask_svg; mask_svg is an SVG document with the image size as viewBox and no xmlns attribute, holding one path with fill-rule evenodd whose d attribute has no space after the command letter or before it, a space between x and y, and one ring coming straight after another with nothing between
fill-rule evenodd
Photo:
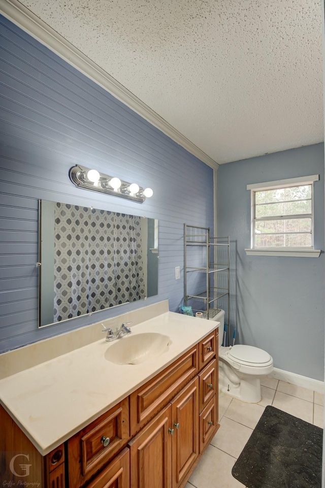
<instances>
[{"instance_id":1,"label":"tall metal wire shelf rack standing over the toilet tank","mask_svg":"<svg viewBox=\"0 0 325 488\"><path fill-rule=\"evenodd\" d=\"M200 247L202 251L191 248ZM222 250L221 256L218 250ZM219 263L218 259L222 261ZM184 224L184 301L194 313L213 318L218 300L228 297L228 340L230 323L230 237L212 237L209 227ZM199 274L199 283L193 274ZM202 273L205 280L202 279ZM203 283L205 281L205 283ZM219 286L221 282L222 286ZM196 289L198 287L199 289ZM203 291L202 291L203 290ZM201 308L200 308L201 307ZM223 334L223 331L220 331Z\"/></svg>"}]
</instances>

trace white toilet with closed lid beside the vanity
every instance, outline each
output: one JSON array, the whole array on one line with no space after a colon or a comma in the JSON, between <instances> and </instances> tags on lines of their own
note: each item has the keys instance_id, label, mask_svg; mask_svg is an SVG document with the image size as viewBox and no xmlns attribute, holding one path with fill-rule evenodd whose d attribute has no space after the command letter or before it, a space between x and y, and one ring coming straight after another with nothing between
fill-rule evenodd
<instances>
[{"instance_id":1,"label":"white toilet with closed lid beside the vanity","mask_svg":"<svg viewBox=\"0 0 325 488\"><path fill-rule=\"evenodd\" d=\"M262 399L259 378L273 371L273 359L263 349L242 344L223 347L224 310L210 320L219 326L219 391L243 402L258 403Z\"/></svg>"}]
</instances>

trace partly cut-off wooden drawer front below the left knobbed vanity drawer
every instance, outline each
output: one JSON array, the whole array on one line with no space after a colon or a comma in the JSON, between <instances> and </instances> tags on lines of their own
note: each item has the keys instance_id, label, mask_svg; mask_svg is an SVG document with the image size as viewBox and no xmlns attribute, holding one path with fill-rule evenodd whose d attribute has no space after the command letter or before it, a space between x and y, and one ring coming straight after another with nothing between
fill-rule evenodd
<instances>
[{"instance_id":1,"label":"partly cut-off wooden drawer front below the left knobbed vanity drawer","mask_svg":"<svg viewBox=\"0 0 325 488\"><path fill-rule=\"evenodd\" d=\"M103 471L87 484L87 488L129 488L130 454L127 447L106 466Z\"/></svg>"}]
</instances>

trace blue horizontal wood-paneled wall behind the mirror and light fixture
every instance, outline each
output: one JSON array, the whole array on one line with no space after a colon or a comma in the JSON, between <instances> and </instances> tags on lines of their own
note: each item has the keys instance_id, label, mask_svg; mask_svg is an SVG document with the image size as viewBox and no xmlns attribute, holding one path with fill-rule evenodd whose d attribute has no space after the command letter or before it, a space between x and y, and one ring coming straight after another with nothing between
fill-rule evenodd
<instances>
[{"instance_id":1,"label":"blue horizontal wood-paneled wall behind the mirror and light fixture","mask_svg":"<svg viewBox=\"0 0 325 488\"><path fill-rule=\"evenodd\" d=\"M127 310L183 298L183 224L213 225L213 171L0 16L0 352ZM150 186L140 205L76 188L81 164ZM38 329L39 199L159 219L158 295Z\"/></svg>"}]
</instances>

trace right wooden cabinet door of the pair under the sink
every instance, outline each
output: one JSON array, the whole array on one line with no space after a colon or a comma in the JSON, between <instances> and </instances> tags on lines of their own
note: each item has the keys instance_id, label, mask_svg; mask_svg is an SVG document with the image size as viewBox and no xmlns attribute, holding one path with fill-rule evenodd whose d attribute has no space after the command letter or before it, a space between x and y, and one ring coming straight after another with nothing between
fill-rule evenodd
<instances>
[{"instance_id":1,"label":"right wooden cabinet door of the pair under the sink","mask_svg":"<svg viewBox=\"0 0 325 488\"><path fill-rule=\"evenodd\" d=\"M183 481L199 455L199 378L196 376L172 400L173 488Z\"/></svg>"}]
</instances>

